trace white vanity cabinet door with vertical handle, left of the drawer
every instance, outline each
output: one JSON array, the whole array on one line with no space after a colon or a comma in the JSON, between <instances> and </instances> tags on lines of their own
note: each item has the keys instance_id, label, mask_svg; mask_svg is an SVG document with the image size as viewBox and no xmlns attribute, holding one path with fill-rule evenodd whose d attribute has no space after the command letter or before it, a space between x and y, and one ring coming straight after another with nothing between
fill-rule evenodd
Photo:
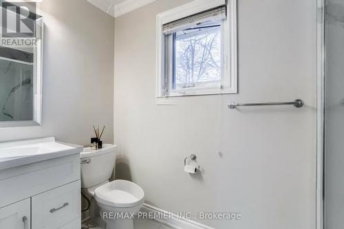
<instances>
[{"instance_id":1,"label":"white vanity cabinet door with vertical handle, left of the drawer","mask_svg":"<svg viewBox=\"0 0 344 229\"><path fill-rule=\"evenodd\" d=\"M0 228L30 229L30 198L0 208Z\"/></svg>"}]
</instances>

